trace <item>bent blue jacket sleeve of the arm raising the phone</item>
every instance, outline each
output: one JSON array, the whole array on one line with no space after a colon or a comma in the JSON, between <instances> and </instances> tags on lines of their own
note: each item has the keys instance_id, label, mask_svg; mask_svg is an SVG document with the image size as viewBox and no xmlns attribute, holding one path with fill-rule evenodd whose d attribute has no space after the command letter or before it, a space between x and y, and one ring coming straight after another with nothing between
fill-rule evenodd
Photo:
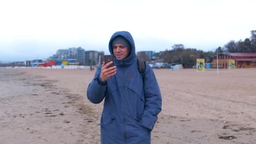
<instances>
[{"instance_id":1,"label":"bent blue jacket sleeve of the arm raising the phone","mask_svg":"<svg viewBox=\"0 0 256 144\"><path fill-rule=\"evenodd\" d=\"M105 92L107 88L107 82L103 82L100 80L101 67L98 67L91 83L87 88L87 98L91 101L91 103L99 104L105 97Z\"/></svg>"}]
</instances>

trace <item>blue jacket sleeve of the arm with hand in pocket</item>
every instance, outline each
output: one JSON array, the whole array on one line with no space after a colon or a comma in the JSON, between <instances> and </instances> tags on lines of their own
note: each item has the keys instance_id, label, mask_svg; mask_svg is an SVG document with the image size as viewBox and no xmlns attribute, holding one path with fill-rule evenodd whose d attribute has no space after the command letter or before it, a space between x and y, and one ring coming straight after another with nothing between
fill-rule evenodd
<instances>
[{"instance_id":1,"label":"blue jacket sleeve of the arm with hand in pocket","mask_svg":"<svg viewBox=\"0 0 256 144\"><path fill-rule=\"evenodd\" d=\"M154 71L149 65L146 67L144 78L144 99L145 106L141 124L151 131L162 110L162 97Z\"/></svg>"}]
</instances>

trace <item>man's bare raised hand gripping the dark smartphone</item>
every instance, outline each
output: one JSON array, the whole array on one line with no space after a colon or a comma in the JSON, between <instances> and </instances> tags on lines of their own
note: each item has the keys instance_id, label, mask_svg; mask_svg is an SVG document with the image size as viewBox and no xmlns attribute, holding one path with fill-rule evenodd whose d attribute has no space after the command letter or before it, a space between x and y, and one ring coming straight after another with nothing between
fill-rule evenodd
<instances>
[{"instance_id":1,"label":"man's bare raised hand gripping the dark smartphone","mask_svg":"<svg viewBox=\"0 0 256 144\"><path fill-rule=\"evenodd\" d=\"M111 61L105 65L105 62L103 62L102 68L101 68L101 75L100 75L100 78L102 81L107 81L109 79L109 77L111 77L117 73L116 66L108 68L108 66L112 63L113 63L113 61Z\"/></svg>"}]
</instances>

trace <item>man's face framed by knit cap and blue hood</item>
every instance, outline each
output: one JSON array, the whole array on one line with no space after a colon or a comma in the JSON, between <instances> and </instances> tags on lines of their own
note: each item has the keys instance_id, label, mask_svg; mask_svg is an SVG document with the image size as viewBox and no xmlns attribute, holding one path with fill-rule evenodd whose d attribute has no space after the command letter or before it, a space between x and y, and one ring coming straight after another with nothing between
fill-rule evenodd
<instances>
[{"instance_id":1,"label":"man's face framed by knit cap and blue hood","mask_svg":"<svg viewBox=\"0 0 256 144\"><path fill-rule=\"evenodd\" d=\"M113 46L113 53L115 58L117 59L124 59L129 55L129 50L125 45L122 44L115 44Z\"/></svg>"}]
</instances>

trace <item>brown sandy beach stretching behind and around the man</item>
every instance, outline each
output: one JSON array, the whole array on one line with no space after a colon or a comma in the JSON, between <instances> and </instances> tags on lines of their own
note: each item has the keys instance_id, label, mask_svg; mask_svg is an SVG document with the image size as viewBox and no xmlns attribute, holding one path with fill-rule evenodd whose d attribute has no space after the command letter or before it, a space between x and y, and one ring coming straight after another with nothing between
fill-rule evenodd
<instances>
[{"instance_id":1,"label":"brown sandy beach stretching behind and around the man","mask_svg":"<svg viewBox=\"0 0 256 144\"><path fill-rule=\"evenodd\" d=\"M155 69L162 111L152 143L256 143L256 69ZM100 143L95 71L0 68L0 143Z\"/></svg>"}]
</instances>

